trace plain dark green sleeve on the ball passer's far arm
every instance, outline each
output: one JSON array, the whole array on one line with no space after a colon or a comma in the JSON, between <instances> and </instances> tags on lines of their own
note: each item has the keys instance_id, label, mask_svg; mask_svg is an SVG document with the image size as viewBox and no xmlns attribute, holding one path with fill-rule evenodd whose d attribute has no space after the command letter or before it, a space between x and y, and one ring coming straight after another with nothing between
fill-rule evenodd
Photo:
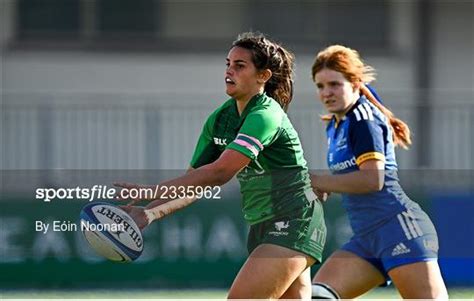
<instances>
[{"instance_id":1,"label":"plain dark green sleeve on the ball passer's far arm","mask_svg":"<svg viewBox=\"0 0 474 301\"><path fill-rule=\"evenodd\" d=\"M217 160L219 150L212 140L215 117L211 115L202 128L190 165L193 168L209 164Z\"/></svg>"}]
</instances>

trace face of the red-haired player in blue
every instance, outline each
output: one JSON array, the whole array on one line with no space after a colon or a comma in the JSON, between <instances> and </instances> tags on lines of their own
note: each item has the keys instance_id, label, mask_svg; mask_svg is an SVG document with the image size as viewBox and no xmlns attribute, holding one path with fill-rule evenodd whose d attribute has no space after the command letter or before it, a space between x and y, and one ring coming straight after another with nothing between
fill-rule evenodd
<instances>
[{"instance_id":1,"label":"face of the red-haired player in blue","mask_svg":"<svg viewBox=\"0 0 474 301\"><path fill-rule=\"evenodd\" d=\"M342 73L324 68L314 76L319 99L329 113L343 117L359 99L359 89Z\"/></svg>"}]
</instances>

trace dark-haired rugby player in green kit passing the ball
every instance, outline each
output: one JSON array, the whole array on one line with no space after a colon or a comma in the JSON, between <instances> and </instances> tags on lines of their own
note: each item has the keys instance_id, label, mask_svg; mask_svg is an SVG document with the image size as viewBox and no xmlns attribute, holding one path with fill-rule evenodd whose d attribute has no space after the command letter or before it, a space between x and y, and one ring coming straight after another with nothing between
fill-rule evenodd
<instances>
[{"instance_id":1,"label":"dark-haired rugby player in green kit passing the ball","mask_svg":"<svg viewBox=\"0 0 474 301\"><path fill-rule=\"evenodd\" d=\"M231 98L204 124L190 170L159 184L212 187L237 175L243 215L250 224L250 255L230 288L231 299L310 298L310 266L321 261L323 209L285 113L292 98L293 60L290 52L261 34L240 35L226 58L225 85ZM143 228L194 199L161 198L146 208L126 210Z\"/></svg>"}]
</instances>

